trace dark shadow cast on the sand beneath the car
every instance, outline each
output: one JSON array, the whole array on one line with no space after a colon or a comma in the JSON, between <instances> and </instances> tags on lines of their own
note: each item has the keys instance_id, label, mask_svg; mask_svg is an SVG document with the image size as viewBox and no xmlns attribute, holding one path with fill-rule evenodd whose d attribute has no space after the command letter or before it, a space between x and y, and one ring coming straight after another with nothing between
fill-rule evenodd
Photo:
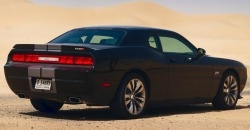
<instances>
[{"instance_id":1,"label":"dark shadow cast on the sand beneath the car","mask_svg":"<svg viewBox=\"0 0 250 130\"><path fill-rule=\"evenodd\" d=\"M249 109L248 106L237 106L235 109ZM182 114L198 114L207 112L221 112L225 110L216 110L211 104L202 105L182 105L182 106L168 106L168 107L157 107L148 108L141 118L152 118L152 117L164 117L171 115L182 115ZM22 115L44 117L52 119L63 119L63 120L76 120L76 121L110 121L110 120L123 120L117 118L111 114L109 107L101 108L85 108L85 109L69 109L60 110L57 113L41 113L35 112L21 112Z\"/></svg>"}]
</instances>

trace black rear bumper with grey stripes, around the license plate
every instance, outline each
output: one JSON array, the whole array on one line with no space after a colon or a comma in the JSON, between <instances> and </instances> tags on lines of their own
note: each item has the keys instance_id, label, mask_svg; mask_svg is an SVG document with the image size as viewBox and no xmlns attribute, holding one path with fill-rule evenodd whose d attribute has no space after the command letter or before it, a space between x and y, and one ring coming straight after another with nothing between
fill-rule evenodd
<instances>
[{"instance_id":1,"label":"black rear bumper with grey stripes, around the license plate","mask_svg":"<svg viewBox=\"0 0 250 130\"><path fill-rule=\"evenodd\" d=\"M77 97L87 105L109 105L119 80L111 72L96 72L93 68L7 63L5 77L10 89L26 98L41 98L69 102ZM35 89L36 79L51 79L51 90ZM110 87L102 87L109 82Z\"/></svg>"}]
</instances>

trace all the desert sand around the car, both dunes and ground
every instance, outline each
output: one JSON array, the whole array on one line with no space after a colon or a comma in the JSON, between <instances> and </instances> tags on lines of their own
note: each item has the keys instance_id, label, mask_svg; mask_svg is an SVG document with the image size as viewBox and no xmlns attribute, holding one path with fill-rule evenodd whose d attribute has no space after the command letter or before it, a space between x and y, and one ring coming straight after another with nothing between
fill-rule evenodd
<instances>
[{"instance_id":1,"label":"all the desert sand around the car, both dunes and ground","mask_svg":"<svg viewBox=\"0 0 250 130\"><path fill-rule=\"evenodd\" d=\"M250 83L237 108L211 104L147 110L133 120L117 120L106 107L65 105L57 114L35 111L9 89L3 66L13 45L46 43L65 31L95 25L137 25L174 30L210 56L236 59L250 69L250 16L190 15L151 2L102 8L65 8L28 0L0 0L0 129L250 129ZM249 75L248 71L248 75Z\"/></svg>"}]
</instances>

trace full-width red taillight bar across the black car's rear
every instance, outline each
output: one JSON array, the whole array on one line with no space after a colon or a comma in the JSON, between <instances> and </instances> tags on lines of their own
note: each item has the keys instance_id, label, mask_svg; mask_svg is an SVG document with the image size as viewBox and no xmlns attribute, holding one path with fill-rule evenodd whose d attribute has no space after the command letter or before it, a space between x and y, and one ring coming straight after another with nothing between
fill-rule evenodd
<instances>
[{"instance_id":1,"label":"full-width red taillight bar across the black car's rear","mask_svg":"<svg viewBox=\"0 0 250 130\"><path fill-rule=\"evenodd\" d=\"M91 56L57 56L57 55L39 55L39 54L13 54L13 62L30 62L30 63L52 63L52 64L69 64L69 65L94 65Z\"/></svg>"}]
</instances>

